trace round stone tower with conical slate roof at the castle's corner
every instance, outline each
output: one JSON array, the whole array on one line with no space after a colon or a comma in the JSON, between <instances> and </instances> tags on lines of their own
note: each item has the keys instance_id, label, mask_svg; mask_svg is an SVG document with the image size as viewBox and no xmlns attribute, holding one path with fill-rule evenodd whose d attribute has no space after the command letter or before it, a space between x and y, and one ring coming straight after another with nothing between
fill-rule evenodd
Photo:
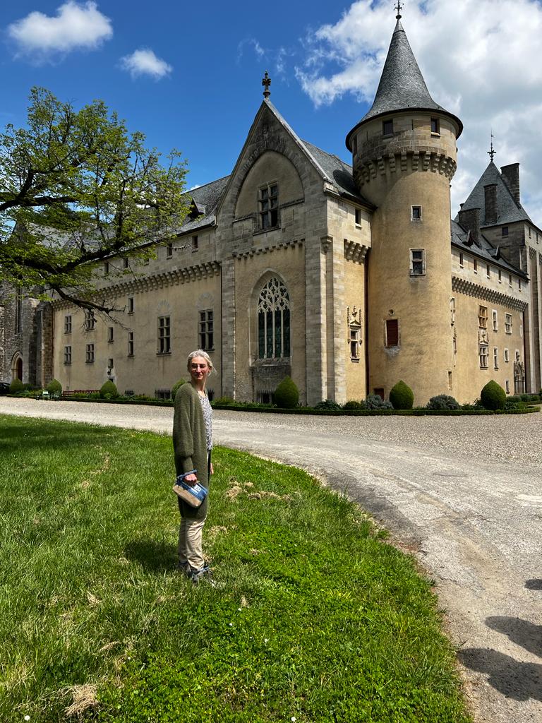
<instances>
[{"instance_id":1,"label":"round stone tower with conical slate roof at the castle's corner","mask_svg":"<svg viewBox=\"0 0 542 723\"><path fill-rule=\"evenodd\" d=\"M453 389L449 183L463 124L429 95L397 25L369 113L348 133L371 221L368 393L399 380L416 405Z\"/></svg>"}]
</instances>

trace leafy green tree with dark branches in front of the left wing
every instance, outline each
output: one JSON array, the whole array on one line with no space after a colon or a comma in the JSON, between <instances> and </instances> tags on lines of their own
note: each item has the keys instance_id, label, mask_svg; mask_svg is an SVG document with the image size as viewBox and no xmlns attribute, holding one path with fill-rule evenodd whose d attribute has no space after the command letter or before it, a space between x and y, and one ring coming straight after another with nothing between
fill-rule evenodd
<instances>
[{"instance_id":1,"label":"leafy green tree with dark branches in front of the left wing","mask_svg":"<svg viewBox=\"0 0 542 723\"><path fill-rule=\"evenodd\" d=\"M93 275L110 257L144 258L186 216L186 165L145 147L95 100L81 110L35 87L27 127L0 133L0 271L87 309L113 311ZM142 247L142 244L147 247ZM129 273L119 269L119 273Z\"/></svg>"}]
</instances>

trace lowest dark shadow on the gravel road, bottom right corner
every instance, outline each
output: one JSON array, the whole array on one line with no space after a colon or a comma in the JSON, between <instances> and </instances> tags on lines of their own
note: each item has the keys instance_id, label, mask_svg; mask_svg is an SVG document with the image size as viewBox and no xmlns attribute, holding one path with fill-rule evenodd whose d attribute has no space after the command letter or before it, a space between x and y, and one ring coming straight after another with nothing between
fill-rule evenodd
<instances>
[{"instance_id":1,"label":"lowest dark shadow on the gravel road, bottom right corner","mask_svg":"<svg viewBox=\"0 0 542 723\"><path fill-rule=\"evenodd\" d=\"M488 683L515 701L542 701L542 665L520 663L488 648L468 648L457 657L465 667L489 675Z\"/></svg>"}]
</instances>

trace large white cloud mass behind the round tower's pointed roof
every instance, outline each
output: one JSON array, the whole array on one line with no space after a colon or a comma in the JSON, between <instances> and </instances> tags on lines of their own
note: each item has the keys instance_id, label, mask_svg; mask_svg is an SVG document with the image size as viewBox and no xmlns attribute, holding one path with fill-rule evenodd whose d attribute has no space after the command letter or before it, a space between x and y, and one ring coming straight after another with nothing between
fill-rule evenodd
<instances>
[{"instance_id":1,"label":"large white cloud mass behind the round tower's pointed roof","mask_svg":"<svg viewBox=\"0 0 542 723\"><path fill-rule=\"evenodd\" d=\"M374 99L395 20L390 3L358 0L334 25L311 31L296 77L315 106L345 94ZM465 125L452 213L489 162L521 163L522 198L542 225L542 7L536 0L411 0L403 27L429 92ZM360 112L360 117L364 111ZM353 126L359 118L352 119Z\"/></svg>"}]
</instances>

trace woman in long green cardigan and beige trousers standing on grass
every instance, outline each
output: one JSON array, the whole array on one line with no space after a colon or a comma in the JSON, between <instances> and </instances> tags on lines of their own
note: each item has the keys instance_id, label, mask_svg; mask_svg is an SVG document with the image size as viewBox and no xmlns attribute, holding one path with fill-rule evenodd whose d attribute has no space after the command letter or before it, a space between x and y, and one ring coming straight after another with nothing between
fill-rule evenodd
<instances>
[{"instance_id":1,"label":"woman in long green cardigan and beige trousers standing on grass","mask_svg":"<svg viewBox=\"0 0 542 723\"><path fill-rule=\"evenodd\" d=\"M197 349L188 355L186 367L190 383L178 388L173 417L173 451L177 474L187 474L184 481L200 482L209 487L212 474L212 410L205 392L205 382L212 372L209 355ZM178 531L178 568L194 583L210 576L202 552L202 530L207 517L207 497L194 508L179 498L181 526Z\"/></svg>"}]
</instances>

